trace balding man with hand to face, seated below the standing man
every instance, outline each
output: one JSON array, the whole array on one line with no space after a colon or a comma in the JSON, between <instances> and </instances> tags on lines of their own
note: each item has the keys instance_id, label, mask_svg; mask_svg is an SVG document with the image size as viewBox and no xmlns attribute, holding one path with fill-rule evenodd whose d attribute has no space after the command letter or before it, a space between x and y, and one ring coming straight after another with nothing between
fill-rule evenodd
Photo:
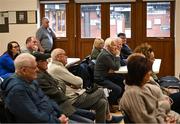
<instances>
[{"instance_id":1,"label":"balding man with hand to face, seated below the standing man","mask_svg":"<svg viewBox=\"0 0 180 124\"><path fill-rule=\"evenodd\" d=\"M30 36L26 39L26 47L22 49L22 53L33 53L36 51L44 52L44 49L35 37Z\"/></svg>"}]
</instances>

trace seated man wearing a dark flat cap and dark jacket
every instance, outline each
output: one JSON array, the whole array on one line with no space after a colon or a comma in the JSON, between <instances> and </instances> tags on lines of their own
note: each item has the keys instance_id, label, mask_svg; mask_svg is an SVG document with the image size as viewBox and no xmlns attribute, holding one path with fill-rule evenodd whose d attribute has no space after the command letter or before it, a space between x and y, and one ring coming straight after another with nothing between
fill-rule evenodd
<instances>
[{"instance_id":1,"label":"seated man wearing a dark flat cap and dark jacket","mask_svg":"<svg viewBox=\"0 0 180 124\"><path fill-rule=\"evenodd\" d=\"M58 85L58 80L55 80L46 71L48 64L47 59L50 57L50 54L36 52L33 55L36 57L37 67L39 69L37 81L44 93L49 96L49 98L56 101L63 114L68 116L71 120L81 123L93 123L95 118L94 113L90 112L89 110L82 110L73 107L69 101L69 98L65 95L65 92L63 92L61 88L62 86Z\"/></svg>"}]
</instances>

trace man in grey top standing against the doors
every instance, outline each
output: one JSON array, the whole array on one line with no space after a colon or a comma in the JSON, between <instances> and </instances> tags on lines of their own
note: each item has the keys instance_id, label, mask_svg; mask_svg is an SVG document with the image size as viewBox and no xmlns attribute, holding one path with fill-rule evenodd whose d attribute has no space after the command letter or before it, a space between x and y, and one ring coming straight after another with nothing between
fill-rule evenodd
<instances>
[{"instance_id":1,"label":"man in grey top standing against the doors","mask_svg":"<svg viewBox=\"0 0 180 124\"><path fill-rule=\"evenodd\" d=\"M50 52L53 48L53 40L56 38L55 33L49 27L49 19L42 18L42 25L36 32L36 37L40 41L44 52Z\"/></svg>"}]
</instances>

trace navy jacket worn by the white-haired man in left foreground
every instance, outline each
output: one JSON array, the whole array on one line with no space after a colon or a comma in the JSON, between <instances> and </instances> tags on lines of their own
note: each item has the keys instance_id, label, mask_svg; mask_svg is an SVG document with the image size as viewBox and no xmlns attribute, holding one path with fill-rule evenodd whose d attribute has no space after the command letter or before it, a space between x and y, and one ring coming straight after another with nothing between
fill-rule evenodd
<instances>
[{"instance_id":1,"label":"navy jacket worn by the white-haired man in left foreground","mask_svg":"<svg viewBox=\"0 0 180 124\"><path fill-rule=\"evenodd\" d=\"M16 122L60 123L58 105L50 101L36 81L12 75L1 84L5 106Z\"/></svg>"}]
</instances>

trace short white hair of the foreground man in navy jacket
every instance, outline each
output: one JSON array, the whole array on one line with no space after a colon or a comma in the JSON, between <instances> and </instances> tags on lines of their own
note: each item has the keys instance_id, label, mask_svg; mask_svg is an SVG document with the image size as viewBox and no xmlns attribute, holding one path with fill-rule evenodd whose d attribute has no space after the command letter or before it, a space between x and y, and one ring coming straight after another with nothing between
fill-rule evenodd
<instances>
[{"instance_id":1,"label":"short white hair of the foreground man in navy jacket","mask_svg":"<svg viewBox=\"0 0 180 124\"><path fill-rule=\"evenodd\" d=\"M21 67L30 66L32 60L36 61L35 57L30 53L21 53L14 60L15 69L19 70Z\"/></svg>"}]
</instances>

